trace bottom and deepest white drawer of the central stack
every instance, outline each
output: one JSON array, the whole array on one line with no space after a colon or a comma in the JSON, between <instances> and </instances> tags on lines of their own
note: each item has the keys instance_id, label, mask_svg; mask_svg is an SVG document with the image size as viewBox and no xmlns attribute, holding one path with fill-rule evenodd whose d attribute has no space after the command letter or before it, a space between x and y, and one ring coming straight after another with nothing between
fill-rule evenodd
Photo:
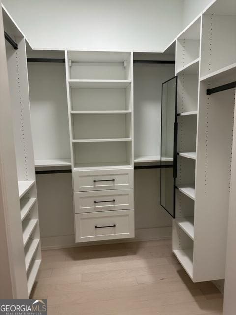
<instances>
[{"instance_id":1,"label":"bottom and deepest white drawer of the central stack","mask_svg":"<svg viewBox=\"0 0 236 315\"><path fill-rule=\"evenodd\" d=\"M134 237L134 210L75 214L76 242L130 237Z\"/></svg>"}]
</instances>

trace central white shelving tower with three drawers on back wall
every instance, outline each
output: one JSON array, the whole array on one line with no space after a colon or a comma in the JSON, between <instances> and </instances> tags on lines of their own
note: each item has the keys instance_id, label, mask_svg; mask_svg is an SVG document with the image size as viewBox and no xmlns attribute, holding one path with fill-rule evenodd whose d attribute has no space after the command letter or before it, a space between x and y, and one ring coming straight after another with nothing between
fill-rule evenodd
<instances>
[{"instance_id":1,"label":"central white shelving tower with three drawers on back wall","mask_svg":"<svg viewBox=\"0 0 236 315\"><path fill-rule=\"evenodd\" d=\"M133 237L133 54L65 58L75 240Z\"/></svg>"}]
</instances>

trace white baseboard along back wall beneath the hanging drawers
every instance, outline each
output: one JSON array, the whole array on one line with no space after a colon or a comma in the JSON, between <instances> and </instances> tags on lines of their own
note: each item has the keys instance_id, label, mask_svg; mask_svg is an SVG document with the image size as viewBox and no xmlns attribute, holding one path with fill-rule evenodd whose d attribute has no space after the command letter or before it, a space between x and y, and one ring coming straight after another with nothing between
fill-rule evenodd
<instances>
[{"instance_id":1,"label":"white baseboard along back wall beneath the hanging drawers","mask_svg":"<svg viewBox=\"0 0 236 315\"><path fill-rule=\"evenodd\" d=\"M74 234L61 235L53 237L42 237L41 247L42 250L52 250L66 247L89 246L94 244L112 244L124 242L137 242L137 241L154 241L159 239L171 238L172 227L154 227L154 228L141 228L135 230L135 237L130 239L110 240L110 241L97 241L86 243L75 243Z\"/></svg>"}]
</instances>

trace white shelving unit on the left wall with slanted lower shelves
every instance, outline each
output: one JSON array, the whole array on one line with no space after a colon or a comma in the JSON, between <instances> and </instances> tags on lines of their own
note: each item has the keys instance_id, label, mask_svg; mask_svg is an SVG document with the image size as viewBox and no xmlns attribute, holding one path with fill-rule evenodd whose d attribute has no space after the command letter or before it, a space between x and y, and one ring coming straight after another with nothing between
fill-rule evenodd
<instances>
[{"instance_id":1,"label":"white shelving unit on the left wall with slanted lower shelves","mask_svg":"<svg viewBox=\"0 0 236 315\"><path fill-rule=\"evenodd\" d=\"M17 43L6 43L8 78L12 105L15 153L19 189L19 223L22 222L22 248L25 255L25 280L22 290L30 296L41 263L37 189L31 134L26 42L7 12L3 13L4 30Z\"/></svg>"}]
</instances>

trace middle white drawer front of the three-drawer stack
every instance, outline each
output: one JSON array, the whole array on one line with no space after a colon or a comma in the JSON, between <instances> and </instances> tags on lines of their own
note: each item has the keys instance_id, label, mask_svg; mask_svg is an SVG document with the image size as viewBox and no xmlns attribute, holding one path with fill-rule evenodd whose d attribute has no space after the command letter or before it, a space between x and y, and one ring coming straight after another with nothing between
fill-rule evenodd
<instances>
[{"instance_id":1,"label":"middle white drawer front of the three-drawer stack","mask_svg":"<svg viewBox=\"0 0 236 315\"><path fill-rule=\"evenodd\" d=\"M134 208L133 189L75 192L75 213Z\"/></svg>"}]
</instances>

